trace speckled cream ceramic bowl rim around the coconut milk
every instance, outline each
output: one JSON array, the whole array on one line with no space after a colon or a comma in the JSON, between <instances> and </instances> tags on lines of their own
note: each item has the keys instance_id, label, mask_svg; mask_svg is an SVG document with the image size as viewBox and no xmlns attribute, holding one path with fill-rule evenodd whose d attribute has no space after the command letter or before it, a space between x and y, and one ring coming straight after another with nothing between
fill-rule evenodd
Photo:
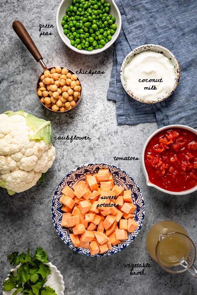
<instances>
[{"instance_id":1,"label":"speckled cream ceramic bowl rim around the coconut milk","mask_svg":"<svg viewBox=\"0 0 197 295\"><path fill-rule=\"evenodd\" d=\"M174 80L174 86L172 87L171 90L169 90L164 96L159 97L155 100L148 100L148 99L144 99L141 97L136 97L132 91L129 89L127 81L125 80L124 77L124 70L125 67L129 64L129 62L139 53L143 52L143 51L154 51L154 52L158 52L163 54L165 57L167 57L170 61L170 63L174 66L174 74L175 74L175 80ZM124 87L125 91L135 100L138 100L142 103L158 103L162 100L165 100L166 98L168 98L176 89L178 83L179 83L179 78L180 78L180 67L179 67L179 63L176 59L176 57L174 56L174 54L172 54L171 51L169 51L167 48L160 46L160 45L156 45L156 44L145 44L142 46L139 46L137 48L135 48L134 50L132 50L124 59L122 66L121 66L121 70L120 70L120 78L121 78L121 82L122 82L122 86Z\"/></svg>"}]
</instances>

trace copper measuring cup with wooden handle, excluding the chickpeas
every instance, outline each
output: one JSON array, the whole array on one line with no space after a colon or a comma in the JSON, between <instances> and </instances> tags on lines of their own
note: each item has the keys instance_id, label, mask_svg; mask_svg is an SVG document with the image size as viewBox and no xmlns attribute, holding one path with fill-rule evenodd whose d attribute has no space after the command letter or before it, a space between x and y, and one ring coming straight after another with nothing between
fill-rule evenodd
<instances>
[{"instance_id":1,"label":"copper measuring cup with wooden handle, excluding the chickpeas","mask_svg":"<svg viewBox=\"0 0 197 295\"><path fill-rule=\"evenodd\" d=\"M23 42L23 44L25 45L25 47L28 49L28 51L29 51L29 52L32 54L32 56L35 58L35 60L36 60L37 62L39 62L39 63L41 64L41 66L43 67L43 72L40 74L40 76L39 76L39 78L38 78L38 81L37 81L37 84L36 84L36 93L37 93L37 92L38 92L37 90L38 90L38 88L39 88L39 82L42 82L42 81L40 80L40 77L43 75L44 71L45 71L45 70L49 70L49 71L50 71L52 68L55 68L55 67L57 67L57 66L54 66L54 67L47 67L47 66L45 65L45 63L44 63L43 60L42 60L42 55L41 55L40 52L38 51L38 48L35 46L35 44L34 44L32 38L29 36L29 34L28 34L27 30L25 29L24 25L23 25L20 21L14 21L13 24L12 24L12 28L14 29L14 31L15 31L15 33L18 35L18 37L21 39L21 41ZM59 67L59 66L58 66L58 67ZM67 68L67 69L68 69L68 67L61 67L61 68L62 68L62 69L63 69L63 68ZM73 72L73 71L70 70L70 69L68 69L68 71L71 72L72 74L75 74L75 72ZM75 74L75 75L76 75L76 74ZM78 77L78 76L77 76L77 77ZM77 79L79 80L79 78L77 78ZM80 82L80 80L79 80L79 82ZM79 97L77 103L75 104L75 106L72 107L72 108L69 109L69 110L72 110L72 109L74 109L75 107L77 107L78 104L79 104L79 101L81 100L81 97L82 97L82 85L81 85L81 82L80 82L80 86L81 86L81 94L80 94L80 97ZM38 99L39 99L39 101L40 101L40 98L39 98L39 96L38 96L38 93L37 93L37 97L38 97ZM42 103L42 102L40 101L40 103ZM55 112L55 113L65 113L65 112L69 111L69 110L65 110L65 111L62 111L62 112L60 112L60 111L53 111L52 109L49 109L48 107L46 107L44 103L42 103L42 105L43 105L46 109L48 109L48 110L50 110L50 111L52 111L52 112Z\"/></svg>"}]
</instances>

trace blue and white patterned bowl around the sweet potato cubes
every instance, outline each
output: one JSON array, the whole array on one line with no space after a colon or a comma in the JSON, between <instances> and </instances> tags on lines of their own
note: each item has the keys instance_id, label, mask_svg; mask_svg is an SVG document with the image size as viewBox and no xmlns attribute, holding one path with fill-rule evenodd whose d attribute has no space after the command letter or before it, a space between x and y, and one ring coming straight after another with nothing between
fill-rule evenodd
<instances>
[{"instance_id":1,"label":"blue and white patterned bowl around the sweet potato cubes","mask_svg":"<svg viewBox=\"0 0 197 295\"><path fill-rule=\"evenodd\" d=\"M62 196L62 189L65 187L65 185L68 185L70 188L76 185L77 182L80 180L85 180L85 174L93 174L98 172L99 169L105 169L109 168L110 172L113 175L114 183L121 185L125 189L131 189L134 195L133 198L133 204L137 207L135 211L135 221L138 224L138 228L133 232L133 233L128 233L129 238L127 241L122 241L120 244L113 246L112 250L109 250L103 254L96 254L96 255L91 255L88 249L78 247L76 248L70 239L69 236L69 230L68 228L62 227L61 226L61 221L62 221L62 203L60 203L59 199ZM115 254L121 250L123 250L125 247L129 246L131 242L137 237L142 224L144 220L144 199L142 196L142 193L136 184L136 182L132 179L132 177L127 174L125 171L122 169L110 165L110 164L103 164L103 163L93 163L93 164L86 164L83 166L80 166L71 172L69 172L59 183L58 187L55 190L55 194L53 196L53 201L52 201L52 219L53 219L53 224L55 226L55 229L60 236L60 238L67 244L71 249L81 253L85 254L88 256L109 256L112 254Z\"/></svg>"}]
</instances>

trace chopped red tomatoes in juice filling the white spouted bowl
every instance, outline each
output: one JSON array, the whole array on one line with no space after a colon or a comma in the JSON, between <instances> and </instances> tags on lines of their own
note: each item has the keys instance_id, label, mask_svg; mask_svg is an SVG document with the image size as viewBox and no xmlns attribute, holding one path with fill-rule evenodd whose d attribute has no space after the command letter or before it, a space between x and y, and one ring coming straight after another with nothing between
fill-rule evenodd
<instances>
[{"instance_id":1,"label":"chopped red tomatoes in juice filling the white spouted bowl","mask_svg":"<svg viewBox=\"0 0 197 295\"><path fill-rule=\"evenodd\" d=\"M182 129L162 130L148 143L145 167L149 181L172 192L197 185L197 135Z\"/></svg>"}]
</instances>

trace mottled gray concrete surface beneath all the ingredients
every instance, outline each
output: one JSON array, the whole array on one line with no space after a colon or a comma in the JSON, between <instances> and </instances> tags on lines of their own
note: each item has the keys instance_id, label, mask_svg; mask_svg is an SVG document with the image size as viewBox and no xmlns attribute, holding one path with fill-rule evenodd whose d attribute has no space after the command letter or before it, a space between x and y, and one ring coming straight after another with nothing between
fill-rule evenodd
<instances>
[{"instance_id":1,"label":"mottled gray concrete surface beneath all the ingredients","mask_svg":"<svg viewBox=\"0 0 197 295\"><path fill-rule=\"evenodd\" d=\"M169 274L149 256L145 239L153 224L162 220L180 223L197 245L197 194L165 195L146 185L139 161L115 161L113 157L139 157L156 123L118 126L115 103L106 99L112 68L113 47L101 54L85 56L67 48L56 25L59 2L1 1L0 18L0 110L25 110L50 120L53 136L89 136L90 141L54 140L56 159L44 182L26 192L8 196L0 189L1 270L0 284L11 266L7 255L13 251L33 251L42 246L49 261L61 271L66 295L196 294L196 280L189 272ZM79 75L83 98L79 106L66 114L45 110L35 91L42 71L12 30L20 20L35 41L48 66L65 65L74 71L100 70L103 75ZM51 36L41 36L39 24L54 25ZM42 29L44 31L44 29ZM46 31L46 30L45 30ZM96 258L72 251L59 238L51 217L52 197L60 180L72 169L85 163L108 162L128 172L139 185L145 200L145 219L135 241L118 254ZM146 275L130 275L128 263L150 263ZM2 287L0 287L2 291Z\"/></svg>"}]
</instances>

